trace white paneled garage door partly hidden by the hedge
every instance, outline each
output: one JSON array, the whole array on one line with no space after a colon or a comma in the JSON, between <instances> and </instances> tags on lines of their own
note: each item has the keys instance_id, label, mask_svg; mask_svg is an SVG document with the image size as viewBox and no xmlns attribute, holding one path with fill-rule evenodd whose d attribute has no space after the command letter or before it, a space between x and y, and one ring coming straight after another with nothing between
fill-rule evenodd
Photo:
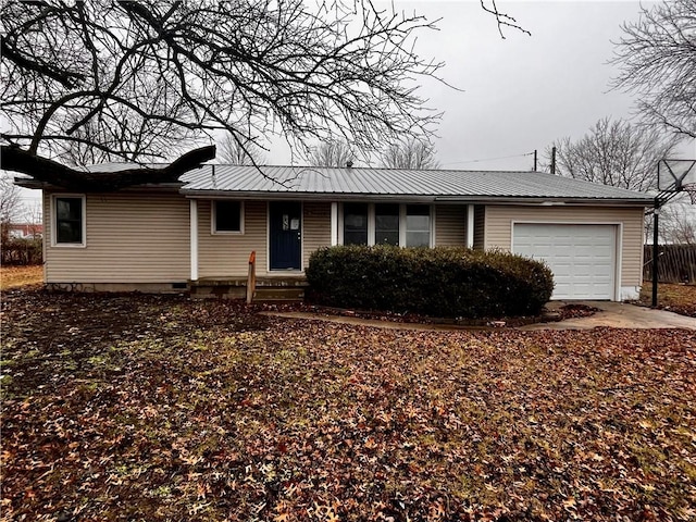
<instances>
[{"instance_id":1,"label":"white paneled garage door partly hidden by the hedge","mask_svg":"<svg viewBox=\"0 0 696 522\"><path fill-rule=\"evenodd\" d=\"M512 241L514 253L543 259L551 269L551 299L614 298L614 226L517 223Z\"/></svg>"}]
</instances>

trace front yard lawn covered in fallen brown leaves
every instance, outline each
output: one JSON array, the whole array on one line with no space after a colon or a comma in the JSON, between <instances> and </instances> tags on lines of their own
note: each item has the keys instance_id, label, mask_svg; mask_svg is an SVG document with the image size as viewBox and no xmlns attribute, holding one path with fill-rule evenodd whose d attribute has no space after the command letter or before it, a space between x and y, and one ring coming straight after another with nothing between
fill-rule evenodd
<instances>
[{"instance_id":1,"label":"front yard lawn covered in fallen brown leaves","mask_svg":"<svg viewBox=\"0 0 696 522\"><path fill-rule=\"evenodd\" d=\"M694 520L696 332L13 290L3 520Z\"/></svg>"}]
</instances>

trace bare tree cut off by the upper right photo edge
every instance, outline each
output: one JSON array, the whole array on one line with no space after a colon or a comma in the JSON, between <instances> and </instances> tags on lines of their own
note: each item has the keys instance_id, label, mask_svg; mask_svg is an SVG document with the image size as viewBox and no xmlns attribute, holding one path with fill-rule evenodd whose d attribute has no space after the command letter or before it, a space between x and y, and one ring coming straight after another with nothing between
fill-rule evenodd
<instances>
[{"instance_id":1,"label":"bare tree cut off by the upper right photo edge","mask_svg":"<svg viewBox=\"0 0 696 522\"><path fill-rule=\"evenodd\" d=\"M612 86L637 95L644 123L696 138L696 1L641 8L616 44Z\"/></svg>"}]
</instances>

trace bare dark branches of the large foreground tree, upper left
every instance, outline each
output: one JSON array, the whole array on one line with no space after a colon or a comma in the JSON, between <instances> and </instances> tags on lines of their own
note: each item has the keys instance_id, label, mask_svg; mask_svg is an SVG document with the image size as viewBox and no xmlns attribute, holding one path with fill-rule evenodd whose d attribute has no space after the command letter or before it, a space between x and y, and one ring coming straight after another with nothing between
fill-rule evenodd
<instances>
[{"instance_id":1,"label":"bare dark branches of the large foreground tree, upper left","mask_svg":"<svg viewBox=\"0 0 696 522\"><path fill-rule=\"evenodd\" d=\"M48 183L74 181L45 158L145 164L223 133L370 153L439 120L413 87L439 79L414 47L433 23L371 0L15 1L0 17L2 135L36 160L3 150Z\"/></svg>"}]
</instances>

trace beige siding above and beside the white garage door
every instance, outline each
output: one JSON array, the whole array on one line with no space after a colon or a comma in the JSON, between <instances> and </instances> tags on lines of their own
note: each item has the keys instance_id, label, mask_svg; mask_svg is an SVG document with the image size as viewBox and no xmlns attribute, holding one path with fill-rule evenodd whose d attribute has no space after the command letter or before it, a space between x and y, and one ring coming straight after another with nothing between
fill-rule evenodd
<instances>
[{"instance_id":1,"label":"beige siding above and beside the white garage door","mask_svg":"<svg viewBox=\"0 0 696 522\"><path fill-rule=\"evenodd\" d=\"M487 206L486 249L511 249L513 222L622 224L621 286L638 286L643 269L643 208Z\"/></svg>"}]
</instances>

